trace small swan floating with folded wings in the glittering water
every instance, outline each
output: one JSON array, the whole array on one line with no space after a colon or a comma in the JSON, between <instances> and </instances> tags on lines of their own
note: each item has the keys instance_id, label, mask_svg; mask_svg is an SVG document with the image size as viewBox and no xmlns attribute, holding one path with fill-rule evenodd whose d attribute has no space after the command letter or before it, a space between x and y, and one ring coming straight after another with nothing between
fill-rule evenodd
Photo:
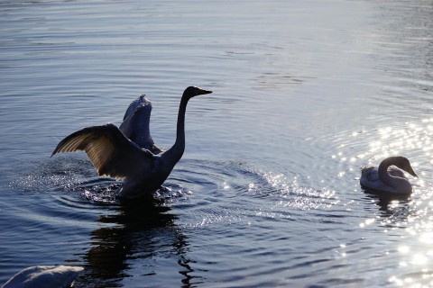
<instances>
[{"instance_id":1,"label":"small swan floating with folded wings in the glittering water","mask_svg":"<svg viewBox=\"0 0 433 288\"><path fill-rule=\"evenodd\" d=\"M400 169L399 169L400 168ZM412 185L403 171L418 177L406 157L387 157L379 167L363 167L360 184L369 189L380 192L407 194L412 192Z\"/></svg>"}]
</instances>

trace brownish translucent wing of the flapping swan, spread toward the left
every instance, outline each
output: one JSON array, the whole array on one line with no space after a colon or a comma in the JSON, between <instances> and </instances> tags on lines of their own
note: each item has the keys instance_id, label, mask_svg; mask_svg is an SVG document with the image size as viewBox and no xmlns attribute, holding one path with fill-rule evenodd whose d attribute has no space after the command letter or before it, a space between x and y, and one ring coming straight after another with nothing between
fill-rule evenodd
<instances>
[{"instance_id":1,"label":"brownish translucent wing of the flapping swan, spread toward the left","mask_svg":"<svg viewBox=\"0 0 433 288\"><path fill-rule=\"evenodd\" d=\"M134 177L150 170L152 154L139 148L114 125L92 126L62 139L51 157L60 152L84 150L99 175L114 178Z\"/></svg>"}]
</instances>

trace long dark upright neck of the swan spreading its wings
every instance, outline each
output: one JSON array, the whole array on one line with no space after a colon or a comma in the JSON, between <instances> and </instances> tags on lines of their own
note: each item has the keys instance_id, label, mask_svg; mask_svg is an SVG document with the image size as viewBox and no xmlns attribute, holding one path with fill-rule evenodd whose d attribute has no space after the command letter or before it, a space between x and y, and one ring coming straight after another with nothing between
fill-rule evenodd
<instances>
[{"instance_id":1,"label":"long dark upright neck of the swan spreading its wings","mask_svg":"<svg viewBox=\"0 0 433 288\"><path fill-rule=\"evenodd\" d=\"M185 151L185 112L187 111L188 100L188 97L185 97L185 95L180 100L176 142L163 154L163 157L166 157L172 166L178 163Z\"/></svg>"}]
</instances>

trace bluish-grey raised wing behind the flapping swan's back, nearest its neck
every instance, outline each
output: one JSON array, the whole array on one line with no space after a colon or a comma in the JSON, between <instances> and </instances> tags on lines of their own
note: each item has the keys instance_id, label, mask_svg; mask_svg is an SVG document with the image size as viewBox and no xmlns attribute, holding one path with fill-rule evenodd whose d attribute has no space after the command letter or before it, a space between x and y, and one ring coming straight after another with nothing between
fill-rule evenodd
<instances>
[{"instance_id":1,"label":"bluish-grey raised wing behind the flapping swan's back, nearest its neck","mask_svg":"<svg viewBox=\"0 0 433 288\"><path fill-rule=\"evenodd\" d=\"M151 150L153 154L161 153L153 142L150 130L152 103L141 95L133 101L124 113L124 121L119 129L128 139L141 148Z\"/></svg>"}]
</instances>

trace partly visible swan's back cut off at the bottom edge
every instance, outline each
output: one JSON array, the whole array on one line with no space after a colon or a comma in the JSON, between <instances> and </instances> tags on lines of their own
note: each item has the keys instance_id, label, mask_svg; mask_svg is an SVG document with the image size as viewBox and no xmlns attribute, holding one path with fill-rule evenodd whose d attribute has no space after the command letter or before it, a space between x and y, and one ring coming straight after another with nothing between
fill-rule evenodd
<instances>
[{"instance_id":1,"label":"partly visible swan's back cut off at the bottom edge","mask_svg":"<svg viewBox=\"0 0 433 288\"><path fill-rule=\"evenodd\" d=\"M66 288L82 270L79 266L32 266L15 274L2 288Z\"/></svg>"}]
</instances>

